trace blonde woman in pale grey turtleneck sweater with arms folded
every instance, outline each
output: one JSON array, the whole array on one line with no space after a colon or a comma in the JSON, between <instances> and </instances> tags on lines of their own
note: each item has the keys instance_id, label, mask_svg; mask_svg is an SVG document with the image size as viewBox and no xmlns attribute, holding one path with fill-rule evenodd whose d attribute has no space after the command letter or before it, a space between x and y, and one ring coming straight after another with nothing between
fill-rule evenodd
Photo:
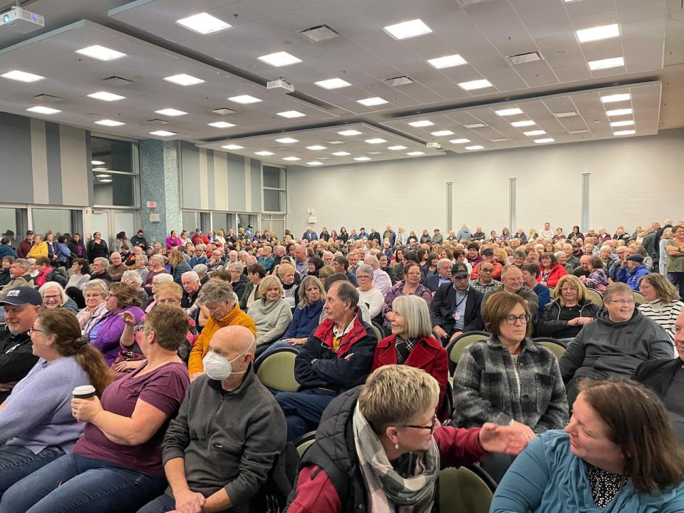
<instances>
[{"instance_id":1,"label":"blonde woman in pale grey turtleneck sweater with arms folded","mask_svg":"<svg viewBox=\"0 0 684 513\"><path fill-rule=\"evenodd\" d=\"M259 264L256 264L259 265ZM283 287L275 276L259 282L259 299L249 307L247 315L257 326L257 352L279 340L292 321L292 311L283 299Z\"/></svg>"}]
</instances>

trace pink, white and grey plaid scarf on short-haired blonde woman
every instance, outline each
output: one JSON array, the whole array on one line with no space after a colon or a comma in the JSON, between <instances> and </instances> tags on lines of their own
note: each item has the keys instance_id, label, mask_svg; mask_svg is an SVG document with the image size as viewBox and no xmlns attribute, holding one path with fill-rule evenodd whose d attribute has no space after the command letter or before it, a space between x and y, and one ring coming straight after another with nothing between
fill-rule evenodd
<instances>
[{"instance_id":1,"label":"pink, white and grey plaid scarf on short-haired blonde woman","mask_svg":"<svg viewBox=\"0 0 684 513\"><path fill-rule=\"evenodd\" d=\"M373 513L427 513L432 509L435 481L440 471L440 453L432 438L430 449L411 453L415 462L410 477L402 477L387 458L385 449L371 425L358 410L353 417L354 442L368 489Z\"/></svg>"}]
</instances>

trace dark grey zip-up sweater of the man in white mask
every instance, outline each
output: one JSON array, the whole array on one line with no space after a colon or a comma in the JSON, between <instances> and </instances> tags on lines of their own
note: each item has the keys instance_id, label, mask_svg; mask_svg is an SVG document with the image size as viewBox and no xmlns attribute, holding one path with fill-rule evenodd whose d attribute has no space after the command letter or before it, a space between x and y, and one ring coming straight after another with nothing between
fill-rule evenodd
<instances>
[{"instance_id":1,"label":"dark grey zip-up sweater of the man in white mask","mask_svg":"<svg viewBox=\"0 0 684 513\"><path fill-rule=\"evenodd\" d=\"M283 411L252 366L232 392L202 375L187 389L169 425L162 462L184 458L185 477L193 492L209 497L224 488L233 502L230 511L247 513L285 447L286 432ZM172 495L170 489L166 493Z\"/></svg>"}]
</instances>

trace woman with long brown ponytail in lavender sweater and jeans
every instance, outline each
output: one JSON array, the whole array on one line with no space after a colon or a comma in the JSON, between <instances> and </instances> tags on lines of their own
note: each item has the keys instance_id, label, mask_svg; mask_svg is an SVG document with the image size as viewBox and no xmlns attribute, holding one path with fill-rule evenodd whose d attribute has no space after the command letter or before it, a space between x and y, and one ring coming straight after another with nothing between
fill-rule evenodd
<instances>
[{"instance_id":1,"label":"woman with long brown ponytail in lavender sweater and jeans","mask_svg":"<svg viewBox=\"0 0 684 513\"><path fill-rule=\"evenodd\" d=\"M93 385L102 395L109 375L100 351L81 335L76 316L45 310L29 330L38 363L0 405L0 497L12 484L73 450L83 425L71 415L71 393Z\"/></svg>"}]
</instances>

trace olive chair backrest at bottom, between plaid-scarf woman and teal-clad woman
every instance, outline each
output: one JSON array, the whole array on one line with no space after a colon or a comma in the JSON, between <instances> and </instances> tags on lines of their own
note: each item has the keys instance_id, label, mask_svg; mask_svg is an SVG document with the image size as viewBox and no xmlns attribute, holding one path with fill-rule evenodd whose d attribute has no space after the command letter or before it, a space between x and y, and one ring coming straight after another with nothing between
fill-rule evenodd
<instances>
[{"instance_id":1,"label":"olive chair backrest at bottom, between plaid-scarf woman and teal-clad woman","mask_svg":"<svg viewBox=\"0 0 684 513\"><path fill-rule=\"evenodd\" d=\"M489 479L487 479L489 478ZM496 485L476 467L446 468L440 472L440 511L487 513Z\"/></svg>"}]
</instances>

